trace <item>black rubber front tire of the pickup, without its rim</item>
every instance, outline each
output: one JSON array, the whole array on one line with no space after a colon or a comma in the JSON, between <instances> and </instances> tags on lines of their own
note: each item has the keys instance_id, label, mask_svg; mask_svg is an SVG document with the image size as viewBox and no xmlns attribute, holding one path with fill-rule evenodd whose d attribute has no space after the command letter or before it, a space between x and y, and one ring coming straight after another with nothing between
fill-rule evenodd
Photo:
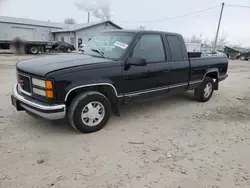
<instances>
[{"instance_id":1,"label":"black rubber front tire of the pickup, without its rim","mask_svg":"<svg viewBox=\"0 0 250 188\"><path fill-rule=\"evenodd\" d=\"M84 120L82 120L82 111L91 102L99 102L104 107L104 117L95 126L88 126ZM111 105L107 97L99 92L89 91L82 93L75 97L69 106L68 121L70 125L77 131L82 133L92 133L102 129L108 122L111 114Z\"/></svg>"}]
</instances>

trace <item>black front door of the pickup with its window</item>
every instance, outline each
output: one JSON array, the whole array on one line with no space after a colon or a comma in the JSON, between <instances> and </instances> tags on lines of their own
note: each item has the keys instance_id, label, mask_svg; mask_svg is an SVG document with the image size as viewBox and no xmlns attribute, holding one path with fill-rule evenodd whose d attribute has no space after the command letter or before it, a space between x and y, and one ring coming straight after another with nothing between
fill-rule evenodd
<instances>
[{"instance_id":1,"label":"black front door of the pickup with its window","mask_svg":"<svg viewBox=\"0 0 250 188\"><path fill-rule=\"evenodd\" d=\"M144 58L146 65L130 65L130 61ZM123 70L123 93L148 93L168 85L169 63L165 54L164 35L142 34Z\"/></svg>"}]
</instances>

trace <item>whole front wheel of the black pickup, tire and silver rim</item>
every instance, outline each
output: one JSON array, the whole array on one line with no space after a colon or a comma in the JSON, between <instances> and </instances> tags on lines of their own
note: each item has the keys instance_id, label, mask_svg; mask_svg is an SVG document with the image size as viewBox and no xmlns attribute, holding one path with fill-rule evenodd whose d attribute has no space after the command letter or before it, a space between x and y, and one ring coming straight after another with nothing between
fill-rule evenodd
<instances>
[{"instance_id":1,"label":"whole front wheel of the black pickup, tire and silver rim","mask_svg":"<svg viewBox=\"0 0 250 188\"><path fill-rule=\"evenodd\" d=\"M96 132L108 122L111 105L107 97L99 92L78 95L69 106L68 120L72 127L82 133Z\"/></svg>"}]
</instances>

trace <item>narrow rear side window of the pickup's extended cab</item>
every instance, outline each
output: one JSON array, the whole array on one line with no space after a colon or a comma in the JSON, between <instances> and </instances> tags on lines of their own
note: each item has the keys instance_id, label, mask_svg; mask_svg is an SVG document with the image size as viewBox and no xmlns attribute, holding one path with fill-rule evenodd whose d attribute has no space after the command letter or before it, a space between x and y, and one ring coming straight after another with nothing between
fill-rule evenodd
<instances>
[{"instance_id":1,"label":"narrow rear side window of the pickup's extended cab","mask_svg":"<svg viewBox=\"0 0 250 188\"><path fill-rule=\"evenodd\" d=\"M171 60L182 61L183 55L179 38L177 36L168 35L167 41L170 48Z\"/></svg>"}]
</instances>

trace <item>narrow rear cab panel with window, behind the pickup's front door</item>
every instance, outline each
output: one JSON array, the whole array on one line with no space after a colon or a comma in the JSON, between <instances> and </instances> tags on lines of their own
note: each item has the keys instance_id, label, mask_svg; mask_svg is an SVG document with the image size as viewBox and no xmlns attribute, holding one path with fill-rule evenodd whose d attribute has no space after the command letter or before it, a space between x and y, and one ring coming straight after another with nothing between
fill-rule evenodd
<instances>
[{"instance_id":1,"label":"narrow rear cab panel with window, behind the pickup's front door","mask_svg":"<svg viewBox=\"0 0 250 188\"><path fill-rule=\"evenodd\" d=\"M189 81L189 59L181 35L165 35L170 54L169 88L186 89Z\"/></svg>"}]
</instances>

